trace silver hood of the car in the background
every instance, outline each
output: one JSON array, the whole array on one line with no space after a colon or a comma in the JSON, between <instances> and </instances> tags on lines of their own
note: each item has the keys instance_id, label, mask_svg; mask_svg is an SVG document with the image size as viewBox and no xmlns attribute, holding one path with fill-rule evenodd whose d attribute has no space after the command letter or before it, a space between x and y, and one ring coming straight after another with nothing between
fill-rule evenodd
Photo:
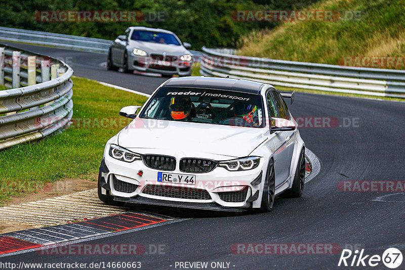
<instances>
[{"instance_id":1,"label":"silver hood of the car in the background","mask_svg":"<svg viewBox=\"0 0 405 270\"><path fill-rule=\"evenodd\" d=\"M130 40L128 46L130 48L137 48L145 51L146 53L151 54L163 54L181 56L185 54L190 54L186 48L170 44L161 44L156 42L145 42L139 40ZM131 49L132 50L132 49Z\"/></svg>"}]
</instances>

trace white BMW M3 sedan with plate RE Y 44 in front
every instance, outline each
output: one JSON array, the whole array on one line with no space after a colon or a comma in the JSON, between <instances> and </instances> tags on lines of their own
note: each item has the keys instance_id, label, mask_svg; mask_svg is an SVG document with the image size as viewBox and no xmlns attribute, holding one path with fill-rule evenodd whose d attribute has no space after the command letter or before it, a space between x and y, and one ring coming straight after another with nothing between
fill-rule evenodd
<instances>
[{"instance_id":1,"label":"white BMW M3 sedan with plate RE Y 44 in front","mask_svg":"<svg viewBox=\"0 0 405 270\"><path fill-rule=\"evenodd\" d=\"M305 145L284 98L294 93L250 80L167 80L119 112L133 120L105 146L100 200L267 212L275 196L300 197Z\"/></svg>"}]
</instances>

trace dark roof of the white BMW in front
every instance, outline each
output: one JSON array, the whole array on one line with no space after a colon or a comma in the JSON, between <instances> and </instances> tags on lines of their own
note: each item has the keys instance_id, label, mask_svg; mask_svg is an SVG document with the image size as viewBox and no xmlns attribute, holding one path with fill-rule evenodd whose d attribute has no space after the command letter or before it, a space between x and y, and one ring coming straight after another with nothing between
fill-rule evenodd
<instances>
[{"instance_id":1,"label":"dark roof of the white BMW in front","mask_svg":"<svg viewBox=\"0 0 405 270\"><path fill-rule=\"evenodd\" d=\"M223 89L260 95L261 89L264 85L269 84L244 79L192 76L172 78L163 86Z\"/></svg>"}]
</instances>

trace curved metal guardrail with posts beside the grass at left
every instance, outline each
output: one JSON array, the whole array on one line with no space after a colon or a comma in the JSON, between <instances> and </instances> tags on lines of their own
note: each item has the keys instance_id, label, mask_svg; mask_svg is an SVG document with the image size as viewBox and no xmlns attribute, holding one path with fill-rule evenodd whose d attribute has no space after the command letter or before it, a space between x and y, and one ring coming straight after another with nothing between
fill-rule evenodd
<instances>
[{"instance_id":1,"label":"curved metal guardrail with posts beside the grass at left","mask_svg":"<svg viewBox=\"0 0 405 270\"><path fill-rule=\"evenodd\" d=\"M37 75L38 74L38 75ZM73 115L73 70L63 61L0 43L0 150L40 140Z\"/></svg>"}]
</instances>

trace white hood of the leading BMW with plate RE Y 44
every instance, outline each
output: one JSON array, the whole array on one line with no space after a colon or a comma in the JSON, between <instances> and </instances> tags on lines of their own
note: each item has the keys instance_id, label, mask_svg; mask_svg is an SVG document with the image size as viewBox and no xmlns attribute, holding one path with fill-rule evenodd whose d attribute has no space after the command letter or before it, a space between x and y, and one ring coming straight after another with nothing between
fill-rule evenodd
<instances>
[{"instance_id":1,"label":"white hood of the leading BMW with plate RE Y 44","mask_svg":"<svg viewBox=\"0 0 405 270\"><path fill-rule=\"evenodd\" d=\"M248 156L267 139L265 133L266 128L135 118L118 133L118 144L141 154L227 160Z\"/></svg>"}]
</instances>

